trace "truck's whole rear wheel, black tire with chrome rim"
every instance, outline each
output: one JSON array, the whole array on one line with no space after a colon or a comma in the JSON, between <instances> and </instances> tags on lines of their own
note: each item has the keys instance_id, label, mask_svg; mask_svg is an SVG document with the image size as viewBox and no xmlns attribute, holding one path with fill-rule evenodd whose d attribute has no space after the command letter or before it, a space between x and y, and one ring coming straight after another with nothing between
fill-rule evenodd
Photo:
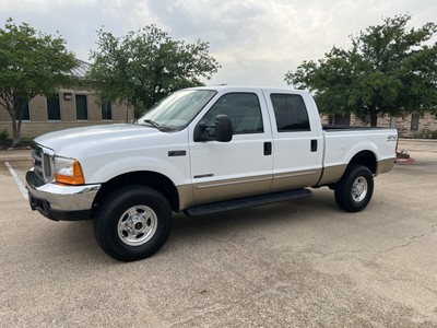
<instances>
[{"instance_id":1,"label":"truck's whole rear wheel, black tire with chrome rim","mask_svg":"<svg viewBox=\"0 0 437 328\"><path fill-rule=\"evenodd\" d=\"M374 175L368 167L352 164L334 189L336 204L346 212L359 212L374 194Z\"/></svg>"}]
</instances>

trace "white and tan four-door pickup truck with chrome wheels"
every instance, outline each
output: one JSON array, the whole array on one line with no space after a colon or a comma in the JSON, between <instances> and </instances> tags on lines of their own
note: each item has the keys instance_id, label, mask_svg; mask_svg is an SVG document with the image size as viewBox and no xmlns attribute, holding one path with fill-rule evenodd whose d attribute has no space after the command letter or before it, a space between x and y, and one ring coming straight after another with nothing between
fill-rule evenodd
<instances>
[{"instance_id":1,"label":"white and tan four-door pickup truck with chrome wheels","mask_svg":"<svg viewBox=\"0 0 437 328\"><path fill-rule=\"evenodd\" d=\"M374 176L394 164L395 129L323 128L311 95L290 89L177 91L137 124L34 140L29 203L48 219L94 220L103 250L132 261L166 242L172 213L212 212L334 190L349 212L366 208Z\"/></svg>"}]
</instances>

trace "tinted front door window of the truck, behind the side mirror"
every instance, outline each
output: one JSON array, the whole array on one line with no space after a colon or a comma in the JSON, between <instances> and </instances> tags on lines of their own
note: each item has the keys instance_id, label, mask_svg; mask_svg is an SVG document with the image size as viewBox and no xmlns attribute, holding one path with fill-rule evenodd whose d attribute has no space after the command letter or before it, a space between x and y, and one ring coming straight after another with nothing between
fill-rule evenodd
<instances>
[{"instance_id":1,"label":"tinted front door window of the truck, behind the side mirror","mask_svg":"<svg viewBox=\"0 0 437 328\"><path fill-rule=\"evenodd\" d=\"M225 114L231 118L234 134L263 132L261 107L255 93L228 93L223 95L204 116L213 124L215 117Z\"/></svg>"}]
</instances>

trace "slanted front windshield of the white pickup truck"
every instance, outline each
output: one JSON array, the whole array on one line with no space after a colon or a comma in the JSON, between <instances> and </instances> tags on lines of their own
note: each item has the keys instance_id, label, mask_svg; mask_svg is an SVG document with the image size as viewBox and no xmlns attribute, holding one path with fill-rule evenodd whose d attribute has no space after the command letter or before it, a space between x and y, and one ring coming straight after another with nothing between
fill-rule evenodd
<instances>
[{"instance_id":1,"label":"slanted front windshield of the white pickup truck","mask_svg":"<svg viewBox=\"0 0 437 328\"><path fill-rule=\"evenodd\" d=\"M213 90L180 90L160 103L139 118L140 125L153 125L158 129L180 130L215 95Z\"/></svg>"}]
</instances>

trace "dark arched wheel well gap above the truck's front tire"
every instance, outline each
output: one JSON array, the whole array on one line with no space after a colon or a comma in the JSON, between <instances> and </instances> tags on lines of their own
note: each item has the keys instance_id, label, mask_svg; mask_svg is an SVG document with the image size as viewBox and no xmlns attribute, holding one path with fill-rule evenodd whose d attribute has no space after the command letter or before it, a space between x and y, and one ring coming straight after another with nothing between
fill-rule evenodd
<instances>
[{"instance_id":1,"label":"dark arched wheel well gap above the truck's front tire","mask_svg":"<svg viewBox=\"0 0 437 328\"><path fill-rule=\"evenodd\" d=\"M93 209L114 190L129 185L142 185L160 191L172 207L172 210L179 211L179 196L175 185L166 176L155 172L130 172L104 183L97 192L93 203Z\"/></svg>"}]
</instances>

